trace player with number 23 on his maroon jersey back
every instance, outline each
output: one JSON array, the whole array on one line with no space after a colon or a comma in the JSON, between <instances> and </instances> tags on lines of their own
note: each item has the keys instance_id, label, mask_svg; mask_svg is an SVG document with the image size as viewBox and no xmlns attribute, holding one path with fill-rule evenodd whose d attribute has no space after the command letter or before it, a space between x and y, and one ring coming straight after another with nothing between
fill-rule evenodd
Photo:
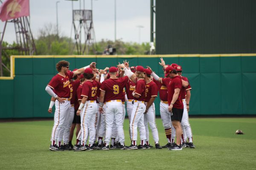
<instances>
[{"instance_id":1,"label":"player with number 23 on his maroon jersey back","mask_svg":"<svg viewBox=\"0 0 256 170\"><path fill-rule=\"evenodd\" d=\"M81 114L81 147L75 151L93 150L94 148L95 120L98 109L96 99L97 89L99 88L100 84L95 80L92 80L93 77L94 74L91 68L84 70L85 81L81 93L83 98L77 111L77 114ZM87 142L88 130L90 131L90 137L87 148L85 145Z\"/></svg>"}]
</instances>

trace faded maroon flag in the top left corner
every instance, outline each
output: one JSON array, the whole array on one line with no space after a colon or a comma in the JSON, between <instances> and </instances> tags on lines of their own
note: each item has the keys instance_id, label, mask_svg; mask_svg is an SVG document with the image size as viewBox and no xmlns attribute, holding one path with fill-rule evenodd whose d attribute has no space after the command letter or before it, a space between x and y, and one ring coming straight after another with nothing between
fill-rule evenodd
<instances>
[{"instance_id":1,"label":"faded maroon flag in the top left corner","mask_svg":"<svg viewBox=\"0 0 256 170\"><path fill-rule=\"evenodd\" d=\"M0 7L0 20L29 16L29 0L6 0Z\"/></svg>"}]
</instances>

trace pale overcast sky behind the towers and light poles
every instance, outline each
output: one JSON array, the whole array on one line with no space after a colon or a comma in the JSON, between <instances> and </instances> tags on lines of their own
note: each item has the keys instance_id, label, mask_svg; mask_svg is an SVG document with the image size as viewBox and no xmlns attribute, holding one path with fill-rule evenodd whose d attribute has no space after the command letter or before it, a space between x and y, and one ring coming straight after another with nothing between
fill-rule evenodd
<instances>
[{"instance_id":1,"label":"pale overcast sky behind the towers and light poles","mask_svg":"<svg viewBox=\"0 0 256 170\"><path fill-rule=\"evenodd\" d=\"M3 1L3 0L2 0ZM72 2L59 0L58 24L60 34L70 37L72 27ZM38 30L47 23L56 24L57 0L30 0L30 23L34 37ZM81 6L91 8L91 0L81 0ZM74 1L74 9L79 9L79 1ZM96 40L114 40L114 0L93 0L93 23ZM0 21L0 32L4 23ZM126 42L139 42L139 28L141 28L141 42L150 41L150 0L116 0L116 39ZM14 24L8 23L4 41L16 40ZM74 34L74 30L73 30ZM74 36L72 36L73 38Z\"/></svg>"}]
</instances>

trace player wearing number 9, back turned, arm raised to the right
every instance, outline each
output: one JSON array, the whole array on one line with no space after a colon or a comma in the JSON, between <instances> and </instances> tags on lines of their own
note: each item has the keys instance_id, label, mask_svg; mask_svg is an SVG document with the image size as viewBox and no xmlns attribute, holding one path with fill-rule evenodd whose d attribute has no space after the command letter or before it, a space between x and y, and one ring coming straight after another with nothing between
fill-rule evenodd
<instances>
[{"instance_id":1,"label":"player wearing number 9, back turned, arm raised to the right","mask_svg":"<svg viewBox=\"0 0 256 170\"><path fill-rule=\"evenodd\" d=\"M120 65L125 69L125 77L116 77L117 70L115 67L109 68L110 79L102 82L101 93L99 98L99 111L103 113L103 101L105 98L106 108L105 108L105 121L106 121L106 134L105 143L106 145L102 147L103 150L109 150L109 144L111 140L111 133L113 127L113 120L116 122L118 139L121 144L121 149L124 149L125 136L123 131L122 119L123 119L123 109L122 109L122 91L125 84L128 83L129 77L135 78L133 73L125 68L125 65Z\"/></svg>"}]
</instances>

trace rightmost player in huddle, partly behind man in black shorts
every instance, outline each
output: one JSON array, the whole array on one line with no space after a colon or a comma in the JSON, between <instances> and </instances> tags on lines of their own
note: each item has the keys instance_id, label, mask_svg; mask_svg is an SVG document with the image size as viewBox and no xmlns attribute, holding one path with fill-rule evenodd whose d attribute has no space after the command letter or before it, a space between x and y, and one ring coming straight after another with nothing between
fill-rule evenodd
<instances>
[{"instance_id":1,"label":"rightmost player in huddle, partly behind man in black shorts","mask_svg":"<svg viewBox=\"0 0 256 170\"><path fill-rule=\"evenodd\" d=\"M177 71L177 73L181 77L181 79L183 79L186 82L189 82L187 77L182 76L182 68L180 65L175 66L174 69ZM189 124L189 114L188 114L189 109L187 109L187 107L189 108L189 101L190 101L190 96L191 96L190 90L191 89L192 89L191 86L188 85L187 88L182 87L180 90L181 99L182 99L183 106L184 106L183 116L182 116L182 120L181 120L181 128L183 130L183 142L184 142L183 144L185 144L186 139L188 138L189 139L189 143L187 144L188 147L195 148L195 145L193 144L192 129ZM187 95L187 94L189 94L189 95ZM187 99L188 103L186 102L186 99Z\"/></svg>"}]
</instances>

